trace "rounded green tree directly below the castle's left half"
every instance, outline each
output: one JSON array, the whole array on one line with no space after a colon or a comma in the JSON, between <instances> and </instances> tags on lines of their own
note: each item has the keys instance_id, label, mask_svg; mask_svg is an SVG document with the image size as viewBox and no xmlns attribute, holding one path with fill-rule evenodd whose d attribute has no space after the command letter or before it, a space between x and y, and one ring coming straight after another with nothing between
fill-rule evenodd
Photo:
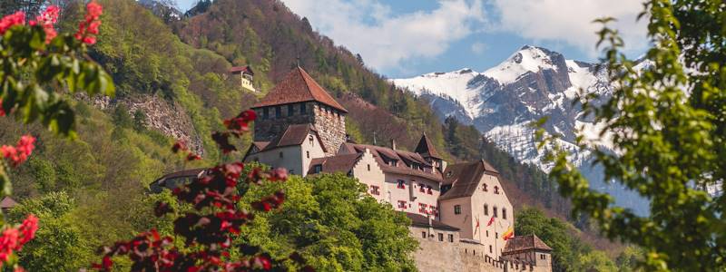
<instances>
[{"instance_id":1,"label":"rounded green tree directly below the castle's left half","mask_svg":"<svg viewBox=\"0 0 726 272\"><path fill-rule=\"evenodd\" d=\"M364 187L342 174L291 176L284 183L252 187L242 199L278 189L287 199L279 211L256 216L241 237L277 257L298 250L320 271L416 270L410 220L369 197Z\"/></svg>"}]
</instances>

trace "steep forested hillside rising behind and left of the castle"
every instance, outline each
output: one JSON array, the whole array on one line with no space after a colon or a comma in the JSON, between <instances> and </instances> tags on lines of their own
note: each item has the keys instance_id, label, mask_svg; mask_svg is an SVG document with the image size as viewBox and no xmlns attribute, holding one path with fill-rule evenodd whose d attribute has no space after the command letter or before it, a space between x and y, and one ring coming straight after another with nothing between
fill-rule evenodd
<instances>
[{"instance_id":1,"label":"steep forested hillside rising behind and left of the castle","mask_svg":"<svg viewBox=\"0 0 726 272\"><path fill-rule=\"evenodd\" d=\"M64 7L59 27L73 31L83 5L54 2ZM163 173L229 159L215 148L211 131L249 108L298 64L348 109L348 133L356 141L385 145L395 139L413 149L426 131L447 160L492 162L507 191L523 199L516 205L568 216L568 203L543 172L498 151L474 127L441 123L427 102L368 70L359 55L312 31L307 19L279 1L201 1L189 17L179 18L154 15L132 0L99 2L103 24L89 57L112 74L116 97L75 97L74 141L0 119L2 142L27 132L38 136L33 158L13 173L14 197L23 204L19 210L34 211L46 222L37 240L57 243L29 244L33 255L21 257L30 270L36 269L28 262L52 262L59 252L73 261L57 267L83 267L99 246L153 226L152 199L143 193L148 184ZM242 64L255 70L260 93L242 91L229 75ZM241 144L250 142L245 137ZM204 160L187 165L172 154L169 147L177 139L188 141ZM59 232L64 240L51 239Z\"/></svg>"}]
</instances>

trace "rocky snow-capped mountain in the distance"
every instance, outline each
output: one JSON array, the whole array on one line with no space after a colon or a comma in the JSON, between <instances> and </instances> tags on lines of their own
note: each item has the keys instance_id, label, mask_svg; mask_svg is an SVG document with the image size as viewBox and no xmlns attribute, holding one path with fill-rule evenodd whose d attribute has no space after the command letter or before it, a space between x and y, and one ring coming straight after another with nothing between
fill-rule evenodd
<instances>
[{"instance_id":1,"label":"rocky snow-capped mountain in the distance","mask_svg":"<svg viewBox=\"0 0 726 272\"><path fill-rule=\"evenodd\" d=\"M546 116L544 129L560 135L560 145L594 188L613 193L618 204L645 208L632 192L603 181L602 170L587 163L591 151L574 144L580 133L591 145L612 150L607 135L600 136L600 126L584 116L578 100L580 92L595 92L606 99L613 90L604 69L594 63L566 60L561 53L525 45L483 73L465 68L392 82L426 98L442 120L453 116L473 124L502 150L544 171L551 166L537 151L535 128L530 124Z\"/></svg>"}]
</instances>

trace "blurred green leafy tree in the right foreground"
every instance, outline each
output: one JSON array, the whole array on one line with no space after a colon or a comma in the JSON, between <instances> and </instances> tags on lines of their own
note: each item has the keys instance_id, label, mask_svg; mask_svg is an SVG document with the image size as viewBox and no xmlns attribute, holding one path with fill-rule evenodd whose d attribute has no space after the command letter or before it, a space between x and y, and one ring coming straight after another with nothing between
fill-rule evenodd
<instances>
[{"instance_id":1,"label":"blurred green leafy tree in the right foreground","mask_svg":"<svg viewBox=\"0 0 726 272\"><path fill-rule=\"evenodd\" d=\"M726 189L724 9L716 0L646 1L652 48L645 59L652 65L636 66L607 27L611 19L598 20L614 90L600 103L588 95L584 109L613 135L618 153L595 150L594 161L606 180L650 199L650 215L615 207L611 196L589 189L563 152L547 156L574 213L594 219L608 238L643 248L647 270L726 269L726 195L707 191Z\"/></svg>"}]
</instances>

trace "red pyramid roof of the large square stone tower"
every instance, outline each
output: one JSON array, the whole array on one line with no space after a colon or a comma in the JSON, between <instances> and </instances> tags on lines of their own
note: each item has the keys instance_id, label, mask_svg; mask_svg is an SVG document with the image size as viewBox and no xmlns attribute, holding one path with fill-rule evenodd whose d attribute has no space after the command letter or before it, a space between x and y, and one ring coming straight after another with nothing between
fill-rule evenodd
<instances>
[{"instance_id":1,"label":"red pyramid roof of the large square stone tower","mask_svg":"<svg viewBox=\"0 0 726 272\"><path fill-rule=\"evenodd\" d=\"M310 75L300 67L295 67L288 73L270 93L260 102L255 103L252 108L288 104L295 102L320 102L335 108L340 112L348 112L328 92L320 87Z\"/></svg>"}]
</instances>

